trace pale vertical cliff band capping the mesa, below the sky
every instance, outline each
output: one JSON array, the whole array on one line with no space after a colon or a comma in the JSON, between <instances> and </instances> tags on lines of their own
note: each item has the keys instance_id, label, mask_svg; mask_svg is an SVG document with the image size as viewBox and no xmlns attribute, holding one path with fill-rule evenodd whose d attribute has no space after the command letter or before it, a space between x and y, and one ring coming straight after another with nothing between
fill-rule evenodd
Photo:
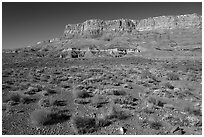
<instances>
[{"instance_id":1,"label":"pale vertical cliff band capping the mesa, below the sky","mask_svg":"<svg viewBox=\"0 0 204 137\"><path fill-rule=\"evenodd\" d=\"M79 24L68 24L65 27L64 36L72 37L97 37L104 32L128 32L154 31L178 28L199 28L202 26L202 16L186 14L178 16L159 16L142 20L118 19L118 20L87 20Z\"/></svg>"}]
</instances>

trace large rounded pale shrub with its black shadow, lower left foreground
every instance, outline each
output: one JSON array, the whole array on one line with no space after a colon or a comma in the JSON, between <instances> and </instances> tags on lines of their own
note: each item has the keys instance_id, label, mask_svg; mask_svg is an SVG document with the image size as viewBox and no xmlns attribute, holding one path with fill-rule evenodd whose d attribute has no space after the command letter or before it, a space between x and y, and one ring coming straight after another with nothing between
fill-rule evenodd
<instances>
[{"instance_id":1,"label":"large rounded pale shrub with its black shadow, lower left foreground","mask_svg":"<svg viewBox=\"0 0 204 137\"><path fill-rule=\"evenodd\" d=\"M70 114L64 111L51 111L48 109L39 109L31 113L30 118L36 126L53 125L69 120Z\"/></svg>"}]
</instances>

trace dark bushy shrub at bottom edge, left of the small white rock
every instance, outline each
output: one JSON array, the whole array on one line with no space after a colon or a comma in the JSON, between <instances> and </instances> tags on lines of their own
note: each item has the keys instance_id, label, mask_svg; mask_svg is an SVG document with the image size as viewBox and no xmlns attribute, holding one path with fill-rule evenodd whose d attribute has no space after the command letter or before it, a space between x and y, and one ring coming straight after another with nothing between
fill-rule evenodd
<instances>
[{"instance_id":1,"label":"dark bushy shrub at bottom edge, left of the small white rock","mask_svg":"<svg viewBox=\"0 0 204 137\"><path fill-rule=\"evenodd\" d=\"M73 117L73 128L78 134L93 133L97 130L96 119L88 117Z\"/></svg>"}]
</instances>

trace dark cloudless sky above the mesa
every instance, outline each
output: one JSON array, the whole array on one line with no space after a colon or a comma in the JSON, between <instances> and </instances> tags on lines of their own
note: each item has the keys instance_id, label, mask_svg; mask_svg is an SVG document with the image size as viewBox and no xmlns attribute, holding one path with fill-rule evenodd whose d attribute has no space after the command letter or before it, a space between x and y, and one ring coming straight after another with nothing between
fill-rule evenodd
<instances>
[{"instance_id":1,"label":"dark cloudless sky above the mesa","mask_svg":"<svg viewBox=\"0 0 204 137\"><path fill-rule=\"evenodd\" d=\"M60 37L66 24L89 19L144 19L191 13L202 15L202 3L3 2L2 49L22 48Z\"/></svg>"}]
</instances>

